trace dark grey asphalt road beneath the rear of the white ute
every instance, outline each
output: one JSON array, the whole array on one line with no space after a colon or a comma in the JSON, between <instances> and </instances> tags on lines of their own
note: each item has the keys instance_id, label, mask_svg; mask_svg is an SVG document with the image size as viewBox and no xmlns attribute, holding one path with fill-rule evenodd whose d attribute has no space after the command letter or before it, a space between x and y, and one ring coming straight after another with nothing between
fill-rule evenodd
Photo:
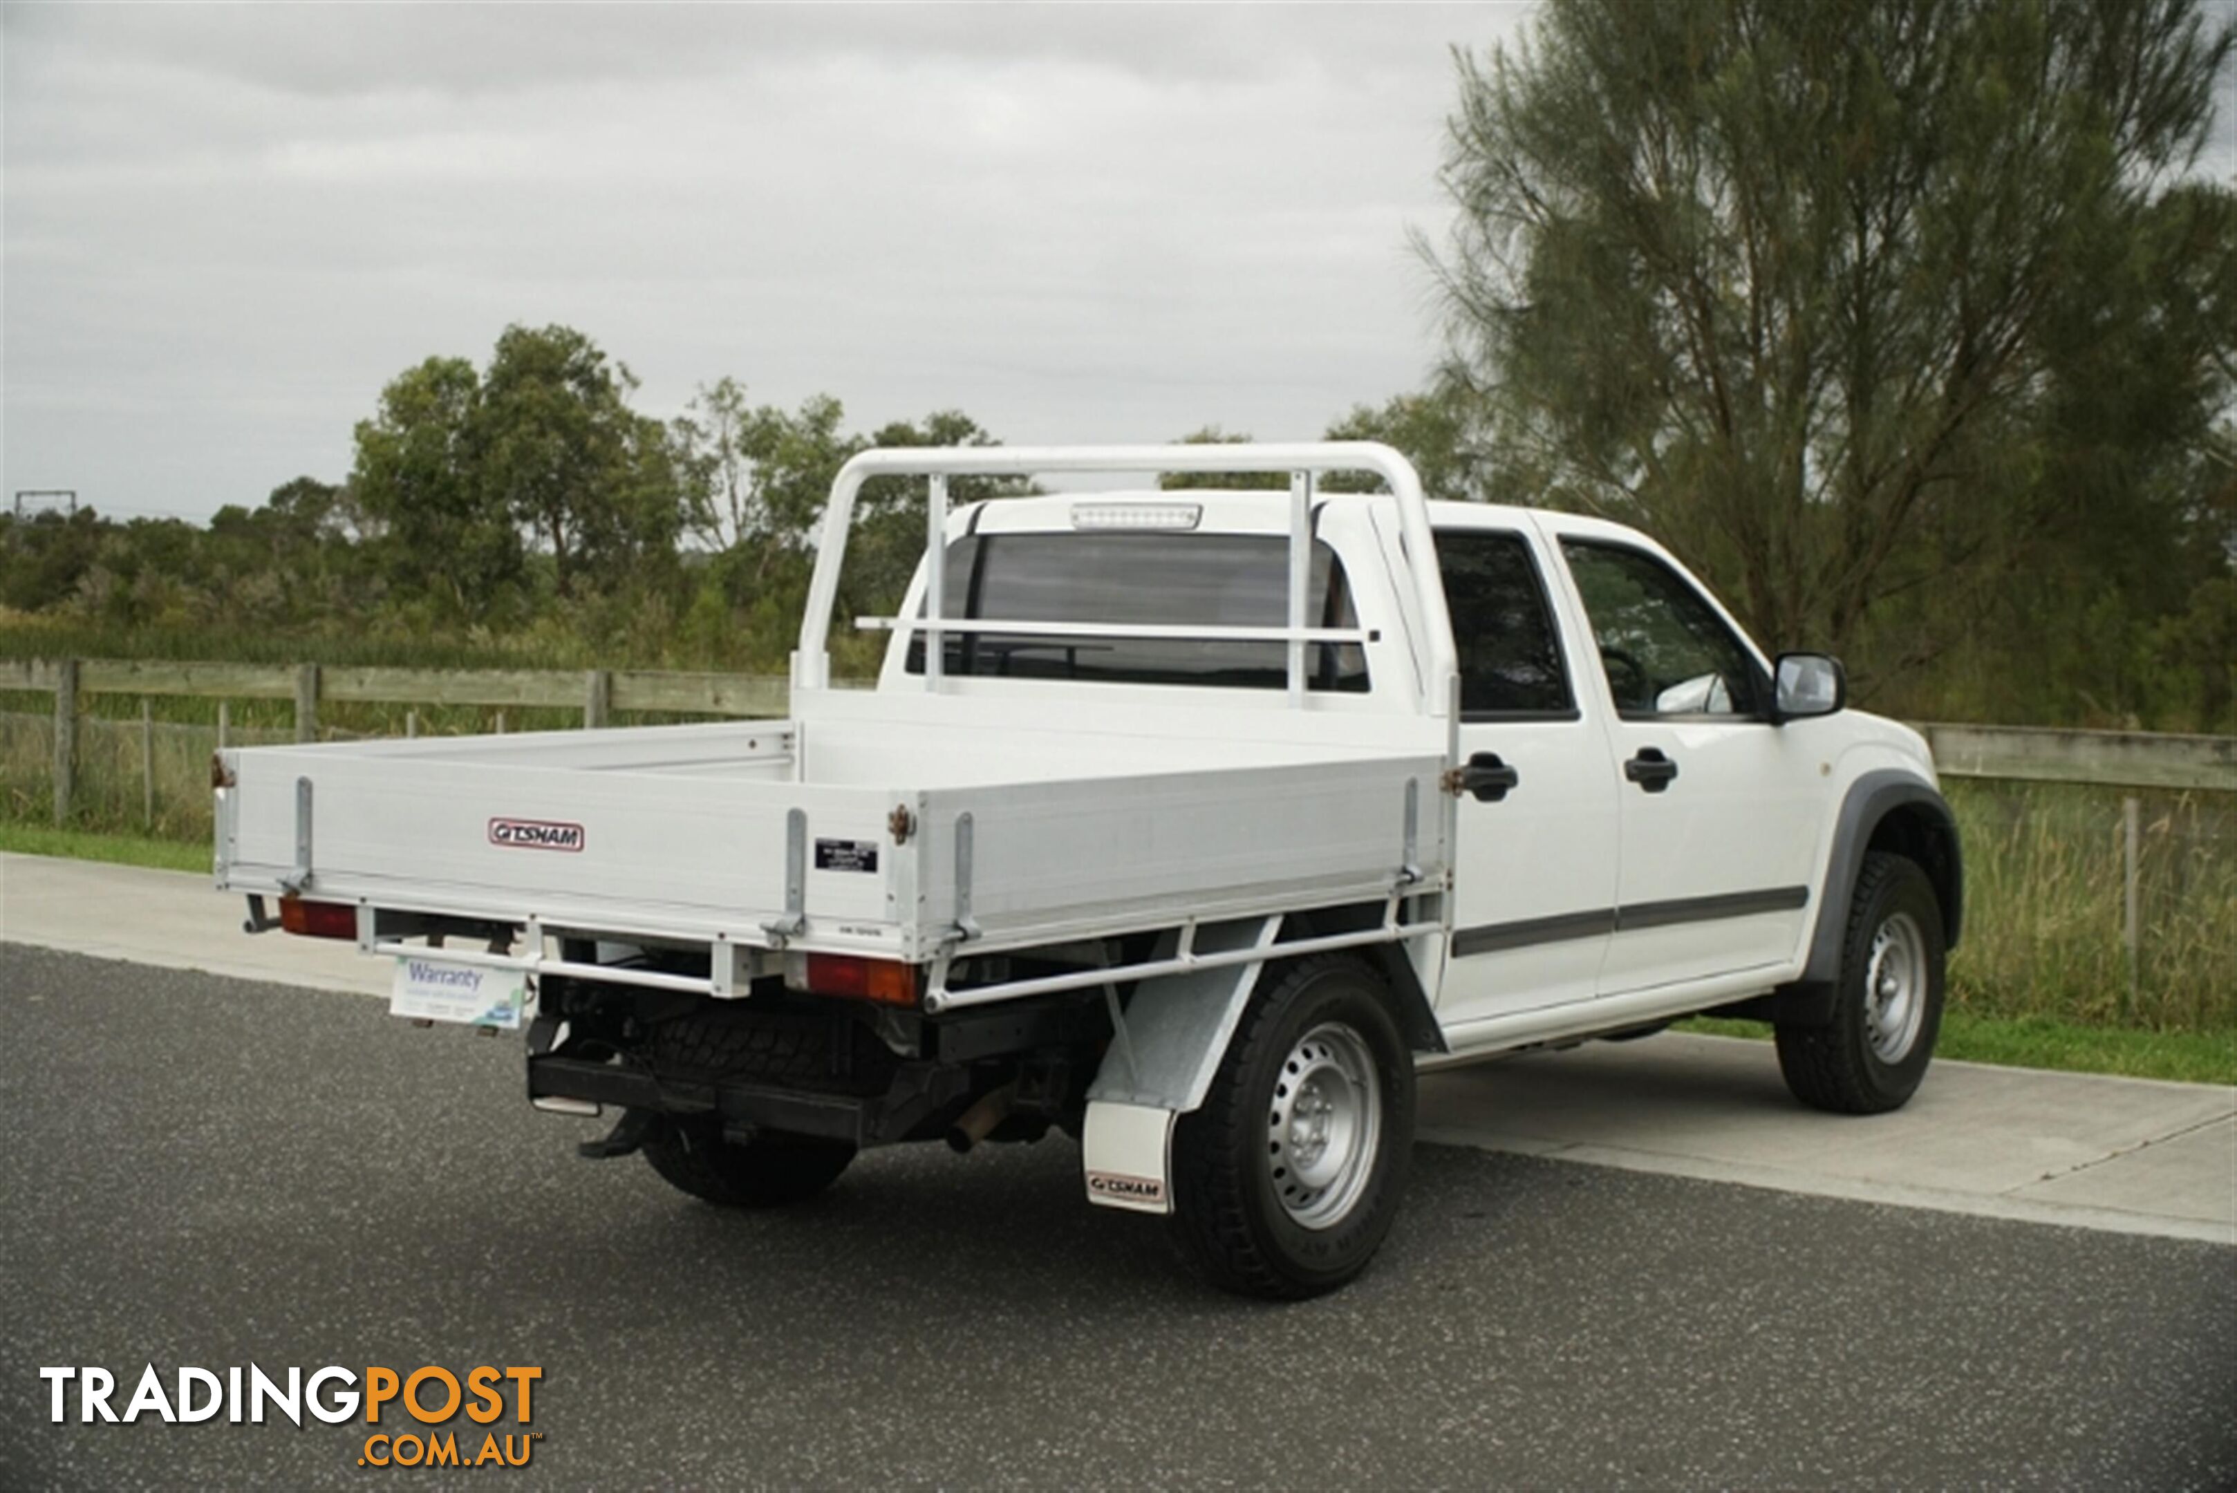
<instances>
[{"instance_id":1,"label":"dark grey asphalt road beneath the rear of the white ute","mask_svg":"<svg viewBox=\"0 0 2237 1493\"><path fill-rule=\"evenodd\" d=\"M40 1365L148 1361L544 1368L526 1471L387 1486L2237 1484L2217 1245L1425 1146L1369 1276L1266 1307L1063 1139L738 1215L577 1162L517 1039L20 945L0 1012L9 1489L374 1475L362 1424L49 1424Z\"/></svg>"}]
</instances>

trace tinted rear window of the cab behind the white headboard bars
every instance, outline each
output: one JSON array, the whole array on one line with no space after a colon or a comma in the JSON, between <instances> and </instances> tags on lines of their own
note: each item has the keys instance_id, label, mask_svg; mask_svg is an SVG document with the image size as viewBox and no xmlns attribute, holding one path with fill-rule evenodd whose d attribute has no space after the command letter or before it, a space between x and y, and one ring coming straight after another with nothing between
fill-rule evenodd
<instances>
[{"instance_id":1,"label":"tinted rear window of the cab behind the white headboard bars","mask_svg":"<svg viewBox=\"0 0 2237 1493\"><path fill-rule=\"evenodd\" d=\"M1327 544L1313 546L1306 598L1309 627L1358 625L1344 566ZM973 535L948 546L942 613L991 622L1286 627L1289 537L1110 530ZM1367 689L1367 654L1353 642L1315 642L1306 647L1304 663L1311 689ZM948 674L1130 685L1289 685L1280 642L962 633L946 638L942 667ZM922 638L908 649L908 672L924 672Z\"/></svg>"}]
</instances>

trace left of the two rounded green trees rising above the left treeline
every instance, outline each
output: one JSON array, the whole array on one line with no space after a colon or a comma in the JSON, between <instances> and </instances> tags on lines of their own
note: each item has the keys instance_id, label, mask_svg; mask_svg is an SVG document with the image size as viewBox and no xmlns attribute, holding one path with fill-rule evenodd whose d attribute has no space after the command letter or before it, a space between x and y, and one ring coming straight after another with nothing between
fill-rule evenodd
<instances>
[{"instance_id":1,"label":"left of the two rounded green trees rising above the left treeline","mask_svg":"<svg viewBox=\"0 0 2237 1493\"><path fill-rule=\"evenodd\" d=\"M398 374L358 421L349 488L376 530L383 569L414 593L483 618L521 573L521 539L503 495L481 481L481 378L465 358L427 358Z\"/></svg>"}]
</instances>

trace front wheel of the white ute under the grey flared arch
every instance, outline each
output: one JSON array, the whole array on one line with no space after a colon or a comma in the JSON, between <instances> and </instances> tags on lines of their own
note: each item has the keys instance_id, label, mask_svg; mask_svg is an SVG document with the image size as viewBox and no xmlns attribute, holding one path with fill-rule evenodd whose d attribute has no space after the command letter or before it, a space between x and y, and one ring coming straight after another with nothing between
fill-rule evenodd
<instances>
[{"instance_id":1,"label":"front wheel of the white ute under the grey flared arch","mask_svg":"<svg viewBox=\"0 0 2237 1493\"><path fill-rule=\"evenodd\" d=\"M1807 1106L1901 1108L1942 1030L1942 902L1917 862L1870 851L1841 940L1841 985L1823 1027L1778 1027L1778 1072Z\"/></svg>"}]
</instances>

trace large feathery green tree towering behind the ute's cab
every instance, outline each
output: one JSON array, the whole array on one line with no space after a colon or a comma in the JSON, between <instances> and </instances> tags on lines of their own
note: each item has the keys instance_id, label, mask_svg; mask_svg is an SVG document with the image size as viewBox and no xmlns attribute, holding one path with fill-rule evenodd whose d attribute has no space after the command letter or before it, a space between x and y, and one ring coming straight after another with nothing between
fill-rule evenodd
<instances>
[{"instance_id":1,"label":"large feathery green tree towering behind the ute's cab","mask_svg":"<svg viewBox=\"0 0 2237 1493\"><path fill-rule=\"evenodd\" d=\"M1550 0L1456 58L1494 483L1669 537L1776 647L2143 501L2228 403L2230 47L2197 0Z\"/></svg>"}]
</instances>

